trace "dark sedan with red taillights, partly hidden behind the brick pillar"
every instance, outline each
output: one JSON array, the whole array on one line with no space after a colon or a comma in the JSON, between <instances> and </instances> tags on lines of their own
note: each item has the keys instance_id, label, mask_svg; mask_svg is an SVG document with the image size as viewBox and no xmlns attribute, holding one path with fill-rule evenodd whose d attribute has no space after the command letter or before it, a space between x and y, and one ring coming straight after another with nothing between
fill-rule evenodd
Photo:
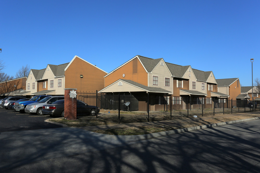
<instances>
[{"instance_id":1,"label":"dark sedan with red taillights, partly hidden behind the brick pillar","mask_svg":"<svg viewBox=\"0 0 260 173\"><path fill-rule=\"evenodd\" d=\"M95 115L100 109L96 106L90 106L81 100L77 100L78 115ZM47 115L57 115L64 117L64 100L55 101L53 104L43 105L42 113Z\"/></svg>"}]
</instances>

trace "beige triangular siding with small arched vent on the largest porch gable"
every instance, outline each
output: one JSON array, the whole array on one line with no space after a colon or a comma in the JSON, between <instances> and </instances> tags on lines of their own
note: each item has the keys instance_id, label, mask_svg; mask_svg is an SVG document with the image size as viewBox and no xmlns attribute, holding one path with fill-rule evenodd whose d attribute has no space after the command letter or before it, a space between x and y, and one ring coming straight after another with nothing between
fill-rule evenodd
<instances>
[{"instance_id":1,"label":"beige triangular siding with small arched vent on the largest porch gable","mask_svg":"<svg viewBox=\"0 0 260 173\"><path fill-rule=\"evenodd\" d=\"M122 82L122 85L118 86L118 83ZM111 86L107 87L106 89L102 90L102 93L109 93L109 92L140 92L145 91L141 88L135 87L133 85L130 85L124 81L118 81L112 84Z\"/></svg>"}]
</instances>

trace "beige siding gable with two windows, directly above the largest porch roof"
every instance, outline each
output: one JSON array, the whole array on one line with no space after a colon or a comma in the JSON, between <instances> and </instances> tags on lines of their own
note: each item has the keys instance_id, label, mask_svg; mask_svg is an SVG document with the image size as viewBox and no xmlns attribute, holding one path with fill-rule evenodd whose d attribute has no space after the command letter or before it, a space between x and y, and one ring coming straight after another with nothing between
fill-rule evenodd
<instances>
[{"instance_id":1,"label":"beige siding gable with two windows, directly above the largest porch roof","mask_svg":"<svg viewBox=\"0 0 260 173\"><path fill-rule=\"evenodd\" d=\"M162 66L161 63L164 63L164 61L160 61L154 70L151 73L148 73L148 86L173 91L173 80L171 73L169 72L166 64L164 63L164 66ZM153 85L153 76L158 76L158 85ZM165 86L165 78L170 78L170 87ZM171 92L169 94L173 93Z\"/></svg>"}]
</instances>

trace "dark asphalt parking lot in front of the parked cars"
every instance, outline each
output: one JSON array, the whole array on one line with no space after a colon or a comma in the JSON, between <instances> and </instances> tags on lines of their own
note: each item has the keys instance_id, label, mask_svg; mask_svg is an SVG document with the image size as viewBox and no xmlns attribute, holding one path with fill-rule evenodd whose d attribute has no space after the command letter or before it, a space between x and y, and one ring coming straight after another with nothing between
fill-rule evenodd
<instances>
[{"instance_id":1,"label":"dark asphalt parking lot in front of the parked cars","mask_svg":"<svg viewBox=\"0 0 260 173\"><path fill-rule=\"evenodd\" d=\"M9 109L0 109L0 133L20 130L60 128L61 126L45 122L49 115L26 114Z\"/></svg>"}]
</instances>

